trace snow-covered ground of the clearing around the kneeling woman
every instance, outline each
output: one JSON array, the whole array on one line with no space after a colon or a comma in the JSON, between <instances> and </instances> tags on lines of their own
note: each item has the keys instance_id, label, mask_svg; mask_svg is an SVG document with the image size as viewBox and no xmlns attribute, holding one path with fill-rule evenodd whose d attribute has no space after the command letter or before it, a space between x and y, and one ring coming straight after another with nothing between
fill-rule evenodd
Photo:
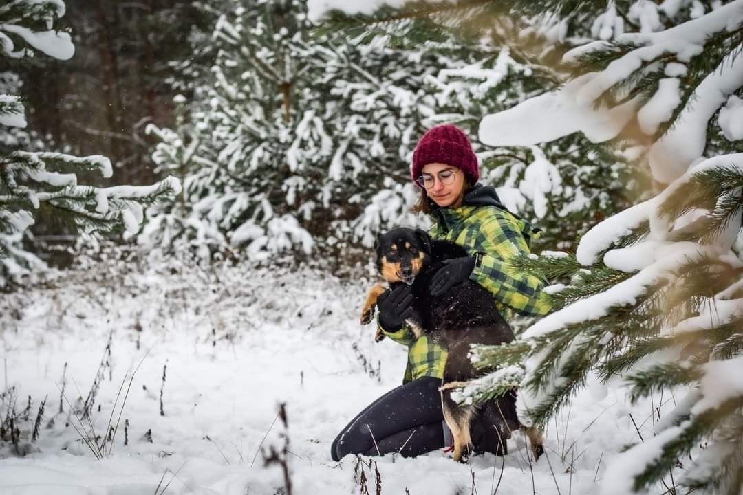
<instances>
[{"instance_id":1,"label":"snow-covered ground of the clearing around the kneeling woman","mask_svg":"<svg viewBox=\"0 0 743 495\"><path fill-rule=\"evenodd\" d=\"M329 456L337 431L403 373L403 347L389 339L374 344L373 329L357 321L368 281L341 283L309 269L203 271L172 263L159 272L123 275L121 265L111 266L82 270L57 289L1 296L3 384L16 387L16 412L28 396L32 404L20 442L26 455L0 444L0 493L153 494L167 482L167 494L282 493L282 469L266 467L262 455L284 445L282 424L275 422L281 402L294 494L360 493L362 468L369 492L377 491L373 467ZM127 373L141 366L111 453L98 460L65 426L82 428L66 401L59 413L60 387L66 363L65 396L80 410L78 398L91 390L109 332L110 367L92 414L97 433L105 434ZM31 442L45 398L39 439ZM114 423L122 399L123 393ZM588 392L578 396L551 424L548 456L533 470L520 436L510 441L504 461L486 455L458 465L443 451L375 459L381 493L492 494L501 477L499 494L598 493L611 451L637 440L624 403L616 389L601 401ZM0 407L5 419L7 394ZM632 410L646 435L652 434L650 410L650 404Z\"/></svg>"}]
</instances>

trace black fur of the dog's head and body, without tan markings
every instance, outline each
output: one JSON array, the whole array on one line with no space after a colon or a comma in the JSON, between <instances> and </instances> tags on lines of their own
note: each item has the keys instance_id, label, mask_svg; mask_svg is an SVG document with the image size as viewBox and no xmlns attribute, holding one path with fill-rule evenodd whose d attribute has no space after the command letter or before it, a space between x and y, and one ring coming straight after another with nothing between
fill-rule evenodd
<instances>
[{"instance_id":1,"label":"black fur of the dog's head and body, without tan markings","mask_svg":"<svg viewBox=\"0 0 743 495\"><path fill-rule=\"evenodd\" d=\"M398 247L397 250L392 246ZM401 249L411 246L412 249ZM443 261L467 256L461 246L443 240L433 240L423 230L393 229L377 237L375 243L377 265L382 271L383 258L399 263L400 272L415 272L415 260L421 260L420 269L412 281L407 281L414 296L415 317L411 320L425 334L437 339L447 348L443 386L452 381L468 381L486 372L476 370L468 354L472 344L502 344L513 341L513 332L496 309L493 296L479 283L464 281L441 296L429 293L429 283ZM392 259L390 259L392 258ZM392 281L394 288L400 281ZM442 392L444 408L452 416L466 413L467 407L458 407L450 397L450 390ZM474 448L503 455L507 453L505 440L510 431L519 428L516 417L515 394L507 394L496 401L475 407L470 433Z\"/></svg>"}]
</instances>

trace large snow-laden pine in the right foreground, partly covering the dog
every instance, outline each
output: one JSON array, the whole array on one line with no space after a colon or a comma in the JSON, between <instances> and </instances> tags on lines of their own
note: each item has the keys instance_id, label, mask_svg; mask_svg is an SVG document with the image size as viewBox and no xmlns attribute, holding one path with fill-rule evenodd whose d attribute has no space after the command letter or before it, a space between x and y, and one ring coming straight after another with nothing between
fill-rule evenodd
<instances>
[{"instance_id":1,"label":"large snow-laden pine in the right foreground, partly covering the dog","mask_svg":"<svg viewBox=\"0 0 743 495\"><path fill-rule=\"evenodd\" d=\"M499 370L461 396L487 399L520 382L519 413L543 425L591 370L622 377L632 400L684 391L655 436L609 465L603 493L645 493L669 473L690 491L743 488L743 1L693 8L688 22L659 16L645 33L568 51L574 79L480 127L493 145L577 131L637 142L662 190L594 226L574 255L520 260L566 282L548 289L557 311L513 344L476 350L477 366ZM535 129L534 119L560 125Z\"/></svg>"}]
</instances>

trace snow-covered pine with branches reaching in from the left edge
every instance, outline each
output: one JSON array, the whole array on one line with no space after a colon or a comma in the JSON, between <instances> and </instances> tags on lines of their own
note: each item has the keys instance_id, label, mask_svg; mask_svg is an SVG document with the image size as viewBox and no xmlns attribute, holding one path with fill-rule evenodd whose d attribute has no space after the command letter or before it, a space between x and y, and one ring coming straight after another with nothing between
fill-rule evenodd
<instances>
[{"instance_id":1,"label":"snow-covered pine with branches reaching in from the left edge","mask_svg":"<svg viewBox=\"0 0 743 495\"><path fill-rule=\"evenodd\" d=\"M70 34L53 29L64 15L61 0L6 2L0 7L0 57L9 61L38 52L70 59L74 54ZM0 287L9 288L44 268L21 246L37 214L49 214L88 235L124 232L127 237L139 230L143 205L180 189L172 178L142 187L79 186L76 171L111 177L111 162L98 155L74 157L23 149L24 142L13 137L18 135L13 129L27 125L18 95L0 94L0 125Z\"/></svg>"}]
</instances>

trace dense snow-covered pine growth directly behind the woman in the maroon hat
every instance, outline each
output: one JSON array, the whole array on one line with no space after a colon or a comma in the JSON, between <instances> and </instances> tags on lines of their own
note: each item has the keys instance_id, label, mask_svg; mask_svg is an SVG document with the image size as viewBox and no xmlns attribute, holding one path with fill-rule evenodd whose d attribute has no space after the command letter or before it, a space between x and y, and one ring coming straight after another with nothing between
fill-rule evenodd
<instances>
[{"instance_id":1,"label":"dense snow-covered pine growth directly behind the woman in the maroon hat","mask_svg":"<svg viewBox=\"0 0 743 495\"><path fill-rule=\"evenodd\" d=\"M283 83L259 70L249 56L264 53L275 64L280 57L269 55L278 50L276 41L266 34L268 28L245 27L275 25L266 17L274 3L261 4L262 9L254 4L246 1L236 12L224 13L212 36L216 44L201 45L218 53L211 71L184 62L189 73L210 72L215 79L189 91L189 117L172 139L159 138L155 160L172 157L163 167L182 168L176 157L193 158L185 168L185 209L162 212L166 216L147 227L143 243L169 249L162 240L176 235L189 249L208 246L201 250L204 255L227 243L244 246L253 259L266 259L277 249L302 252L302 243L291 238L269 245L270 238L281 237L275 220L282 215L310 236L298 238L311 240L314 249L348 255L349 246L368 248L377 232L425 225L425 219L409 214L419 192L408 170L412 149L426 128L452 122L476 134L484 115L557 82L554 71L519 62L521 54L493 42L451 36L450 31L427 36L420 19L383 23L358 36L323 26L311 29L305 22L303 34L288 49L305 65L302 77L292 83L302 91L289 100L287 122ZM300 2L299 13L304 12ZM424 33L426 44L406 33ZM238 115L250 116L250 125L266 139L245 131L248 119ZM194 142L201 144L188 151ZM554 243L559 234L570 246L579 227L595 221L585 215L589 208L611 214L632 198L619 187L629 175L626 160L580 137L523 149L495 150L476 142L476 152L484 182L500 187L507 206L539 220L547 232L543 243ZM584 163L575 163L576 157ZM622 166L607 174L596 162ZM546 184L539 180L541 171L556 167L559 177L552 174L554 180ZM265 197L266 190L275 193ZM574 229L564 228L565 218ZM160 228L168 232L158 233Z\"/></svg>"}]
</instances>

